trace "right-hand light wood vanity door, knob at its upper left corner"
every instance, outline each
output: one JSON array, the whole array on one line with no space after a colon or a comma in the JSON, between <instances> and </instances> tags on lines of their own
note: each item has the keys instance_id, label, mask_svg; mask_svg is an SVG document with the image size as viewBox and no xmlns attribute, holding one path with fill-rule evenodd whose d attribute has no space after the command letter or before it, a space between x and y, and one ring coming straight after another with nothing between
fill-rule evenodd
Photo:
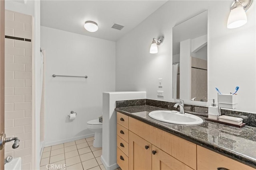
<instances>
[{"instance_id":1,"label":"right-hand light wood vanity door, knob at its upper left corner","mask_svg":"<svg viewBox=\"0 0 256 170\"><path fill-rule=\"evenodd\" d=\"M152 170L193 170L166 152L152 145Z\"/></svg>"}]
</instances>

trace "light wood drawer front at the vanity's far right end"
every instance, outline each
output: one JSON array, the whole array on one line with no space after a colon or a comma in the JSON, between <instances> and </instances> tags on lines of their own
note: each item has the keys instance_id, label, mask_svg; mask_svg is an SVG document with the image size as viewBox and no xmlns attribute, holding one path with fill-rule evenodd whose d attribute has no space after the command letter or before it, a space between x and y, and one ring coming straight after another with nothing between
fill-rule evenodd
<instances>
[{"instance_id":1,"label":"light wood drawer front at the vanity's far right end","mask_svg":"<svg viewBox=\"0 0 256 170\"><path fill-rule=\"evenodd\" d=\"M241 162L197 145L198 170L217 170L220 167L228 170L255 170Z\"/></svg>"}]
</instances>

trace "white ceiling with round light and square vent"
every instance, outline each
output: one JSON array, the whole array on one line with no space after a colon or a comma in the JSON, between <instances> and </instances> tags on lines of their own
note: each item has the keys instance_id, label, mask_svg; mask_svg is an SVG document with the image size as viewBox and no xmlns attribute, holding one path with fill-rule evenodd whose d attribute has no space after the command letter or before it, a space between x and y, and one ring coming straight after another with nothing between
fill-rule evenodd
<instances>
[{"instance_id":1,"label":"white ceiling with round light and square vent","mask_svg":"<svg viewBox=\"0 0 256 170\"><path fill-rule=\"evenodd\" d=\"M117 41L167 0L41 0L41 25L91 37ZM84 29L85 21L98 23L98 31ZM113 23L124 25L119 31Z\"/></svg>"}]
</instances>

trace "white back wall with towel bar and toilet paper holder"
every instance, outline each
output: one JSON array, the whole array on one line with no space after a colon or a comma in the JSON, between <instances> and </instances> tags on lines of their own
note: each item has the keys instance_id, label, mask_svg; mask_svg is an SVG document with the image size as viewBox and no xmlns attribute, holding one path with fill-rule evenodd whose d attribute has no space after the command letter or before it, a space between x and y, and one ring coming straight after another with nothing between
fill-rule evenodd
<instances>
[{"instance_id":1,"label":"white back wall with towel bar and toilet paper holder","mask_svg":"<svg viewBox=\"0 0 256 170\"><path fill-rule=\"evenodd\" d=\"M115 42L41 26L41 47L46 61L45 146L92 136L87 121L102 115L102 92L115 90ZM74 121L67 116L71 110L77 112Z\"/></svg>"}]
</instances>

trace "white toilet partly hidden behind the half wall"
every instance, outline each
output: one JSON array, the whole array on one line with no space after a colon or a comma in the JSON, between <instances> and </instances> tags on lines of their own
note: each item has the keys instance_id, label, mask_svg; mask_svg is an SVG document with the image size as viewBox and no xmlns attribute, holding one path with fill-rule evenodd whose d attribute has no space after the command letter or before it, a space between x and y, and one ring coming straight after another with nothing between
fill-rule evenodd
<instances>
[{"instance_id":1,"label":"white toilet partly hidden behind the half wall","mask_svg":"<svg viewBox=\"0 0 256 170\"><path fill-rule=\"evenodd\" d=\"M87 122L87 128L95 132L92 146L95 148L101 148L102 147L102 123L99 122L99 119L90 120Z\"/></svg>"}]
</instances>

